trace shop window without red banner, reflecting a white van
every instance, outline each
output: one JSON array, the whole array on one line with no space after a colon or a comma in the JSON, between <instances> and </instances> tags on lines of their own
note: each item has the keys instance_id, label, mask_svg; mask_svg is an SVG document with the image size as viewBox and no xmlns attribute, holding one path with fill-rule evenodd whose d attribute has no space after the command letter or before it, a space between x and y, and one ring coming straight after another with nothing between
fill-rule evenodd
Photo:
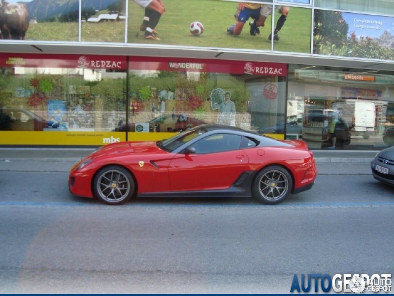
<instances>
[{"instance_id":1,"label":"shop window without red banner, reflecting a white van","mask_svg":"<svg viewBox=\"0 0 394 296\"><path fill-rule=\"evenodd\" d=\"M289 66L286 137L312 149L381 150L394 144L394 76Z\"/></svg>"}]
</instances>

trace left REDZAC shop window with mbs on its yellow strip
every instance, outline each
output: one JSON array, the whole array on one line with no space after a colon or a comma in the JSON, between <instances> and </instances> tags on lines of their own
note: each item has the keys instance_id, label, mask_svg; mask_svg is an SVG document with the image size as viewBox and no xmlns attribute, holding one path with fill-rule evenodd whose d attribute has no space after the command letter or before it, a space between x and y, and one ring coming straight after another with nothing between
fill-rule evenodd
<instances>
[{"instance_id":1,"label":"left REDZAC shop window with mbs on its yellow strip","mask_svg":"<svg viewBox=\"0 0 394 296\"><path fill-rule=\"evenodd\" d=\"M121 141L106 133L126 118L125 57L2 54L0 63L4 144Z\"/></svg>"}]
</instances>

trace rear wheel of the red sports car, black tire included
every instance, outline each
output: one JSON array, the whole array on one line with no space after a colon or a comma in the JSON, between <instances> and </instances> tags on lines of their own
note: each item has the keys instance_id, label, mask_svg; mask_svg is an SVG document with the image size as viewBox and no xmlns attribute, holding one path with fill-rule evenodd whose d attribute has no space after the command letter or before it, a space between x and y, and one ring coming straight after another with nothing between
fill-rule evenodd
<instances>
[{"instance_id":1,"label":"rear wheel of the red sports car, black tire included","mask_svg":"<svg viewBox=\"0 0 394 296\"><path fill-rule=\"evenodd\" d=\"M290 194L293 179L288 170L278 165L266 167L257 174L252 195L264 204L279 204Z\"/></svg>"}]
</instances>

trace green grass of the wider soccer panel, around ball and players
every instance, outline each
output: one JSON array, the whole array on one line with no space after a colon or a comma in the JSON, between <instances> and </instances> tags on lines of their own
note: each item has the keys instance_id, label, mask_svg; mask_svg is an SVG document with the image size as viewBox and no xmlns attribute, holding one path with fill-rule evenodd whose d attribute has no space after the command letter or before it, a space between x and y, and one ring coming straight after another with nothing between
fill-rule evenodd
<instances>
[{"instance_id":1,"label":"green grass of the wider soccer panel, around ball and players","mask_svg":"<svg viewBox=\"0 0 394 296\"><path fill-rule=\"evenodd\" d=\"M143 26L143 19L146 17L145 9L134 1L129 2L128 43L271 50L271 43L266 42L269 33L250 35L249 22L253 21L252 18L242 19L244 24L239 35L227 33L227 29L236 24L234 15L237 14L238 2L171 0L164 2L164 5L165 12L154 27L157 32L154 35L157 39L145 39ZM260 9L261 5L254 3L253 7ZM259 11L254 13L258 17ZM190 32L190 24L195 21L201 22L204 28L203 33L198 36ZM270 32L270 30L269 23L264 27L264 31Z\"/></svg>"}]
</instances>

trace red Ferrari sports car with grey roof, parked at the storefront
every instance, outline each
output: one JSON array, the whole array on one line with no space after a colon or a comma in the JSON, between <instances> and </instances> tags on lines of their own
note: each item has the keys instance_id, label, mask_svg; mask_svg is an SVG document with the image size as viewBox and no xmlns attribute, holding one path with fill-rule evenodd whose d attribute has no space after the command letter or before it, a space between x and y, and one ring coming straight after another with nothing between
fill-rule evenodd
<instances>
[{"instance_id":1,"label":"red Ferrari sports car with grey roof, parked at the storefront","mask_svg":"<svg viewBox=\"0 0 394 296\"><path fill-rule=\"evenodd\" d=\"M277 141L243 129L202 125L157 142L103 146L72 167L71 193L107 204L154 195L253 196L277 204L312 188L305 142Z\"/></svg>"}]
</instances>

